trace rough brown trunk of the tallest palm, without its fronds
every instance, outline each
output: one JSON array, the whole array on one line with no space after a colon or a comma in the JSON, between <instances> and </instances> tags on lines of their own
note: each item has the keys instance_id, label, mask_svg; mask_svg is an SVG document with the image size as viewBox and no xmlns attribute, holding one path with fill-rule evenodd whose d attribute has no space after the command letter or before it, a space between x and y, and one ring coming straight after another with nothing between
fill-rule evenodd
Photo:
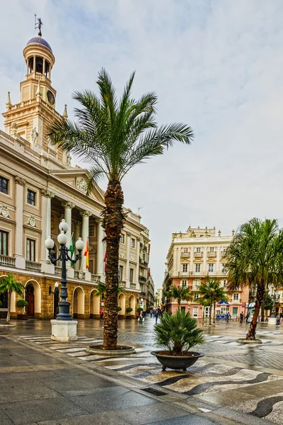
<instances>
[{"instance_id":1,"label":"rough brown trunk of the tallest palm, without its fronds","mask_svg":"<svg viewBox=\"0 0 283 425\"><path fill-rule=\"evenodd\" d=\"M120 182L111 180L105 192L105 209L103 210L103 227L105 229L107 268L105 271L105 309L103 348L117 348L118 317L117 292L119 286L119 243L124 216L122 205L124 196Z\"/></svg>"}]
</instances>

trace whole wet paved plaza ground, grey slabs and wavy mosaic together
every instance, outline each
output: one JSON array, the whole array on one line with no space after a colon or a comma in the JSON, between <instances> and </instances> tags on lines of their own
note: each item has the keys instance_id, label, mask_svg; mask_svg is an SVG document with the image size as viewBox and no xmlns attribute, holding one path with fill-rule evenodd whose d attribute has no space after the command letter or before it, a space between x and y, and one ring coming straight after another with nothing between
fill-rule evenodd
<instances>
[{"instance_id":1,"label":"whole wet paved plaza ground, grey slabs and wavy mosaic together","mask_svg":"<svg viewBox=\"0 0 283 425\"><path fill-rule=\"evenodd\" d=\"M248 325L206 327L205 356L181 373L151 356L149 317L120 320L120 343L137 351L123 358L86 353L102 341L98 320L79 321L67 344L51 341L49 321L14 323L0 328L1 425L283 424L283 329L259 324L262 344L243 346Z\"/></svg>"}]
</instances>

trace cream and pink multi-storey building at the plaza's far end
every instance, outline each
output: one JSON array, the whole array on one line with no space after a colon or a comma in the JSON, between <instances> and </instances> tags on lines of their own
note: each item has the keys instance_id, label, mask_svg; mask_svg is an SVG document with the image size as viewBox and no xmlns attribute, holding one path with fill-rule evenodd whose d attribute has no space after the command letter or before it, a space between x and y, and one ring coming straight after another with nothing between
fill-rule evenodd
<instances>
[{"instance_id":1,"label":"cream and pink multi-storey building at the plaza's far end","mask_svg":"<svg viewBox=\"0 0 283 425\"><path fill-rule=\"evenodd\" d=\"M171 246L166 259L166 273L163 289L169 290L171 285L190 288L194 299L182 301L181 310L190 312L192 317L209 316L209 307L202 307L197 299L201 296L199 285L207 276L220 280L221 286L226 287L225 249L229 246L231 236L221 236L213 229L191 228L185 233L173 233ZM237 291L228 293L229 305L216 305L216 314L230 312L232 317L239 317L245 312L245 302L248 306L248 287L239 287ZM166 310L174 312L178 309L176 300L166 300Z\"/></svg>"}]
</instances>

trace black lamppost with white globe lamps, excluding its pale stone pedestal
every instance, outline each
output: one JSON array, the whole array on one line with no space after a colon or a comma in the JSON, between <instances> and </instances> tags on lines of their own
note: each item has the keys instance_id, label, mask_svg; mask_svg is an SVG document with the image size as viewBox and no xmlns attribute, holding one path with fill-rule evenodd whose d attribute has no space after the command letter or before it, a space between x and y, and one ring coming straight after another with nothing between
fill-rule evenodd
<instances>
[{"instance_id":1,"label":"black lamppost with white globe lamps, excluding its pale stone pedestal","mask_svg":"<svg viewBox=\"0 0 283 425\"><path fill-rule=\"evenodd\" d=\"M70 303L67 301L68 291L67 291L67 269L66 269L66 261L71 261L71 264L76 263L76 261L81 260L81 251L83 250L84 242L81 240L81 237L76 241L76 249L79 251L79 254L76 254L76 258L73 260L69 257L69 249L66 244L68 242L67 231L69 226L67 222L63 219L59 224L60 233L57 237L57 240L60 245L60 254L59 257L56 258L55 254L51 252L54 246L54 241L51 237L47 237L45 241L45 246L48 249L48 258L53 264L56 264L57 261L62 261L62 278L61 278L61 292L60 297L61 301L58 302L59 313L56 316L57 320L71 320L71 314L69 312Z\"/></svg>"}]
</instances>

